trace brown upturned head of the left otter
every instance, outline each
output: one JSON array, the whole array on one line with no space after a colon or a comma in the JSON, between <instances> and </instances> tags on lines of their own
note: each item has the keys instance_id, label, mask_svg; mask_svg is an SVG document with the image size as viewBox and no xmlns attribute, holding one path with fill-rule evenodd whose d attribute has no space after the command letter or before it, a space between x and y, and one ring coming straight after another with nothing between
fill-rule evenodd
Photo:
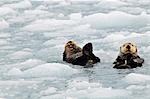
<instances>
[{"instance_id":1,"label":"brown upturned head of the left otter","mask_svg":"<svg viewBox=\"0 0 150 99\"><path fill-rule=\"evenodd\" d=\"M69 41L65 45L65 52L73 54L76 48L77 48L77 45L73 41Z\"/></svg>"}]
</instances>

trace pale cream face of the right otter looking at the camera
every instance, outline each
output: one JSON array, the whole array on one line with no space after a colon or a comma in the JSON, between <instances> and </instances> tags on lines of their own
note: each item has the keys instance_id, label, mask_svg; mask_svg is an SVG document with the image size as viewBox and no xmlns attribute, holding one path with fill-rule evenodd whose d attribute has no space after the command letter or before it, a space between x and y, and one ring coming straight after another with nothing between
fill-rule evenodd
<instances>
[{"instance_id":1,"label":"pale cream face of the right otter looking at the camera","mask_svg":"<svg viewBox=\"0 0 150 99\"><path fill-rule=\"evenodd\" d=\"M120 47L122 54L137 54L137 46L133 43L125 43Z\"/></svg>"}]
</instances>

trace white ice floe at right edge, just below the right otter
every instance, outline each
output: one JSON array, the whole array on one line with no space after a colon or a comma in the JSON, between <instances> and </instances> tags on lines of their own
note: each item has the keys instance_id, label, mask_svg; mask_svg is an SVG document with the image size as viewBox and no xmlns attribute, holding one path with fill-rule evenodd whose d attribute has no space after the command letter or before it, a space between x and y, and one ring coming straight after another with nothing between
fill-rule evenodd
<instances>
[{"instance_id":1,"label":"white ice floe at right edge, just below the right otter","mask_svg":"<svg viewBox=\"0 0 150 99\"><path fill-rule=\"evenodd\" d=\"M150 82L150 76L144 74L131 73L128 74L123 80L130 84L141 84Z\"/></svg>"}]
</instances>

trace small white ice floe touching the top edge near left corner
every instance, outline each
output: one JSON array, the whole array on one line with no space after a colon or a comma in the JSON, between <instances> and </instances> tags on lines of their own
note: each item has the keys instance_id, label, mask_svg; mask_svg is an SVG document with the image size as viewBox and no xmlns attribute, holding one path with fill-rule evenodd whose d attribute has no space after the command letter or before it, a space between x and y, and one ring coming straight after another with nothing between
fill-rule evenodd
<instances>
[{"instance_id":1,"label":"small white ice floe touching the top edge near left corner","mask_svg":"<svg viewBox=\"0 0 150 99\"><path fill-rule=\"evenodd\" d=\"M12 3L12 4L5 4L3 7L10 7L15 9L26 9L31 8L32 4L29 0L20 1L18 3Z\"/></svg>"}]
</instances>

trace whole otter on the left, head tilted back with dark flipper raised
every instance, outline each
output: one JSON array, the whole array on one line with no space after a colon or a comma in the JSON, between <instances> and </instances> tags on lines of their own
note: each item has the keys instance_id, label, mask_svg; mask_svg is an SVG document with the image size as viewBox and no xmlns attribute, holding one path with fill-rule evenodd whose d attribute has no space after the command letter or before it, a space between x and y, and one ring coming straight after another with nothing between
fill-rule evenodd
<instances>
[{"instance_id":1,"label":"whole otter on the left, head tilted back with dark flipper raised","mask_svg":"<svg viewBox=\"0 0 150 99\"><path fill-rule=\"evenodd\" d=\"M100 59L93 54L92 43L87 43L81 49L73 41L69 41L65 45L63 61L72 63L73 65L91 67L93 64L100 62Z\"/></svg>"}]
</instances>

